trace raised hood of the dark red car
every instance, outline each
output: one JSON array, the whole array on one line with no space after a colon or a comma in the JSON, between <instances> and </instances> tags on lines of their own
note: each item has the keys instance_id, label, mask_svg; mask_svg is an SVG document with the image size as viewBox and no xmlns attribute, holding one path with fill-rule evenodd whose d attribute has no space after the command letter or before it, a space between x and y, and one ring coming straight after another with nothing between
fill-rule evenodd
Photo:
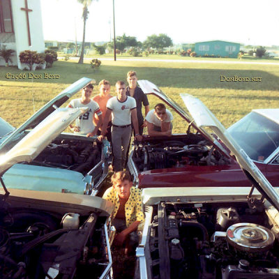
<instances>
[{"instance_id":1,"label":"raised hood of the dark red car","mask_svg":"<svg viewBox=\"0 0 279 279\"><path fill-rule=\"evenodd\" d=\"M197 130L199 133L204 135L204 137L207 140L209 140L210 142L215 144L218 147L218 149L222 150L223 153L225 153L228 156L228 153L225 149L223 149L223 146L214 137L212 137L212 135L210 133L208 133L206 130L204 130L203 127L198 127L196 125L196 123L193 121L192 117L189 116L187 114L187 112L185 110L183 110L183 108L180 105L178 105L174 100L172 100L172 98L169 98L165 93L163 93L163 91L161 91L158 88L158 86L156 86L156 84L149 82L149 80L138 80L137 82L140 85L140 88L142 89L144 94L151 94L151 95L154 95L154 96L160 98L160 100L163 100L163 102L165 102L167 105L169 105L169 107L172 107L172 109L175 112L177 112L184 120L186 120L188 122L189 128L190 128L190 126L193 126L193 128L195 128L195 130ZM188 128L188 130L189 130L189 128ZM188 133L188 131L187 131L187 133Z\"/></svg>"}]
</instances>

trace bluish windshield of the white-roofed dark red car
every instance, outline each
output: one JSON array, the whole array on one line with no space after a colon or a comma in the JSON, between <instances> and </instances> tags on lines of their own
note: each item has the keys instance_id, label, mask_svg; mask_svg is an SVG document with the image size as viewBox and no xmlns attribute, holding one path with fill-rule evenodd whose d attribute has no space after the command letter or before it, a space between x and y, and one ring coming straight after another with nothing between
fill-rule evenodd
<instances>
[{"instance_id":1,"label":"bluish windshield of the white-roofed dark red car","mask_svg":"<svg viewBox=\"0 0 279 279\"><path fill-rule=\"evenodd\" d=\"M256 112L250 112L228 131L252 160L264 161L279 146L279 125Z\"/></svg>"}]
</instances>

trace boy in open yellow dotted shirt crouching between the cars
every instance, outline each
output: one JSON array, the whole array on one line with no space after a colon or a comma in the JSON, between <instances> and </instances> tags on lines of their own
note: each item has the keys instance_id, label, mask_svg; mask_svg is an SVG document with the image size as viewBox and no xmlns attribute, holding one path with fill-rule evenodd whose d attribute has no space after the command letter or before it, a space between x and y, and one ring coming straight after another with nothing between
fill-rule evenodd
<instances>
[{"instance_id":1,"label":"boy in open yellow dotted shirt crouching between the cars","mask_svg":"<svg viewBox=\"0 0 279 279\"><path fill-rule=\"evenodd\" d=\"M112 225L116 228L114 243L116 246L125 244L125 253L128 254L139 242L137 229L144 220L142 191L133 187L128 172L115 172L112 175L112 187L105 191L103 199L115 206L112 212Z\"/></svg>"}]
</instances>

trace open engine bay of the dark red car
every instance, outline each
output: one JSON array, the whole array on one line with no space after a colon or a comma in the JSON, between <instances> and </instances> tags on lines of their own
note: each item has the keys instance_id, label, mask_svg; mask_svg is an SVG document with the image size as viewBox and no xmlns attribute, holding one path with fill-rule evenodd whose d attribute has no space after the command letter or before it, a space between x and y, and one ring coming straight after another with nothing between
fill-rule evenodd
<instances>
[{"instance_id":1,"label":"open engine bay of the dark red car","mask_svg":"<svg viewBox=\"0 0 279 279\"><path fill-rule=\"evenodd\" d=\"M188 134L183 139L172 137L136 142L132 158L139 172L187 165L229 165L230 163L229 158L223 156L197 134Z\"/></svg>"}]
</instances>

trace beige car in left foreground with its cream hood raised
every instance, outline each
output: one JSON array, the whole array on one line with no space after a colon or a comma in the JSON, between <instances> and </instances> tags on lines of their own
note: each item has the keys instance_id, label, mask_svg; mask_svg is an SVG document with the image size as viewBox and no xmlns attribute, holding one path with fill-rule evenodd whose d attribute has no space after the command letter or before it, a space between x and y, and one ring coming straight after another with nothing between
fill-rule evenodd
<instances>
[{"instance_id":1,"label":"beige car in left foreground with its cream hood raised","mask_svg":"<svg viewBox=\"0 0 279 279\"><path fill-rule=\"evenodd\" d=\"M1 151L6 149L0 156L1 279L112 278L111 202L36 187L23 190L22 174L17 187L8 187L3 179L13 165L31 163L86 110L56 107L32 130L17 130L1 145ZM39 174L29 177L32 185Z\"/></svg>"}]
</instances>

